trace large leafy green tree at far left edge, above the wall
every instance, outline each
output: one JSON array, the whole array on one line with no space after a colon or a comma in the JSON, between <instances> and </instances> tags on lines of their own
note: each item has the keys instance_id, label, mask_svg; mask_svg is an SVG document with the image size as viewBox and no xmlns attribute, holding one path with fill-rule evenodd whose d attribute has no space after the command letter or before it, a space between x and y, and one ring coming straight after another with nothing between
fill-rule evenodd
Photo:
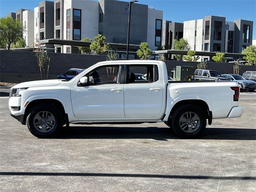
<instances>
[{"instance_id":1,"label":"large leafy green tree at far left edge, above the wall","mask_svg":"<svg viewBox=\"0 0 256 192\"><path fill-rule=\"evenodd\" d=\"M20 20L13 20L11 17L0 18L0 38L3 39L10 50L12 42L19 37L22 38L23 26Z\"/></svg>"}]
</instances>

